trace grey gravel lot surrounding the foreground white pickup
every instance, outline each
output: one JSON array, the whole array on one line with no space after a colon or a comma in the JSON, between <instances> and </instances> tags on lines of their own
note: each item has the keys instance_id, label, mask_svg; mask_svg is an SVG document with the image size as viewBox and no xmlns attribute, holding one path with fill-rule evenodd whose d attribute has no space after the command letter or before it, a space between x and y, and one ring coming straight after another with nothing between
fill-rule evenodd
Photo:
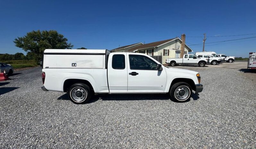
<instances>
[{"instance_id":1,"label":"grey gravel lot surrounding the foreground white pickup","mask_svg":"<svg viewBox=\"0 0 256 149\"><path fill-rule=\"evenodd\" d=\"M185 103L139 94L75 105L41 90L40 67L17 71L0 82L0 148L256 148L256 73L246 64L177 66L204 85Z\"/></svg>"}]
</instances>

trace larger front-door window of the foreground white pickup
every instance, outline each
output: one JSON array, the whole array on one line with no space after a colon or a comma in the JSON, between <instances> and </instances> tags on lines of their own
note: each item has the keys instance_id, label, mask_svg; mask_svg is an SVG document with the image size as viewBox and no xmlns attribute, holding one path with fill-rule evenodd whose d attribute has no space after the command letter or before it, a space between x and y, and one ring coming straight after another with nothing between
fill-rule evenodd
<instances>
[{"instance_id":1,"label":"larger front-door window of the foreground white pickup","mask_svg":"<svg viewBox=\"0 0 256 149\"><path fill-rule=\"evenodd\" d=\"M129 55L130 69L156 70L157 63L142 55Z\"/></svg>"}]
</instances>

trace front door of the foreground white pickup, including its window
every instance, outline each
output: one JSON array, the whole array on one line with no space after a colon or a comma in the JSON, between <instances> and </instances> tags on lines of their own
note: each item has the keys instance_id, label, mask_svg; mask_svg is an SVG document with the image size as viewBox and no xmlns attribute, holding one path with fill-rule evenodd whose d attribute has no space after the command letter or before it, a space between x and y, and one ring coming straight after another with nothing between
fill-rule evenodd
<instances>
[{"instance_id":1,"label":"front door of the foreground white pickup, including its window","mask_svg":"<svg viewBox=\"0 0 256 149\"><path fill-rule=\"evenodd\" d=\"M166 72L156 70L157 62L145 55L127 53L128 92L164 92Z\"/></svg>"}]
</instances>

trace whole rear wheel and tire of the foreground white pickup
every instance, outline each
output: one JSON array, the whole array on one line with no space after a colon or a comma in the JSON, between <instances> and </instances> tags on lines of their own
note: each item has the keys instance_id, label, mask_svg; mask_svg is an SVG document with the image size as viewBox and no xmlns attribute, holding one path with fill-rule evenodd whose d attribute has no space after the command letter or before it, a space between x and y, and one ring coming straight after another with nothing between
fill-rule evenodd
<instances>
[{"instance_id":1,"label":"whole rear wheel and tire of the foreground white pickup","mask_svg":"<svg viewBox=\"0 0 256 149\"><path fill-rule=\"evenodd\" d=\"M75 83L69 88L68 96L76 104L87 103L91 98L91 90L86 84Z\"/></svg>"}]
</instances>

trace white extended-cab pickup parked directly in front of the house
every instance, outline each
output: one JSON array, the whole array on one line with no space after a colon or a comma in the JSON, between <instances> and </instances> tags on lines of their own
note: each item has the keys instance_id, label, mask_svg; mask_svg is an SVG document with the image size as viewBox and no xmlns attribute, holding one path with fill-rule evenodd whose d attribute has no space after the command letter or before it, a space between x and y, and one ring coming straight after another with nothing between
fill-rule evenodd
<instances>
[{"instance_id":1,"label":"white extended-cab pickup parked directly in front of the house","mask_svg":"<svg viewBox=\"0 0 256 149\"><path fill-rule=\"evenodd\" d=\"M176 64L184 64L204 67L206 64L209 64L209 59L201 59L194 54L184 54L183 58L168 58L166 59L165 63L170 64L171 66L176 66Z\"/></svg>"}]
</instances>

